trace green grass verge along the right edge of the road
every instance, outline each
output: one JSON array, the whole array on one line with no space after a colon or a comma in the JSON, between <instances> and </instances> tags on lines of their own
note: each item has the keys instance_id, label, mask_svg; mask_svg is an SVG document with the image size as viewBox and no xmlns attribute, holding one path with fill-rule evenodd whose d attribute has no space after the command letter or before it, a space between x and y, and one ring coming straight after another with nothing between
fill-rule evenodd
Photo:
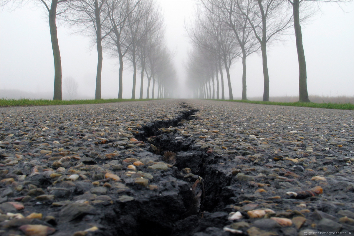
<instances>
[{"instance_id":1,"label":"green grass verge along the right edge of the road","mask_svg":"<svg viewBox=\"0 0 354 236\"><path fill-rule=\"evenodd\" d=\"M339 109L339 110L354 110L354 105L350 103L304 103L304 102L263 102L263 101L251 101L251 100L217 100L228 102L242 102L264 105L278 105L278 106L292 106L292 107L312 107L312 108L326 108L326 109Z\"/></svg>"}]
</instances>

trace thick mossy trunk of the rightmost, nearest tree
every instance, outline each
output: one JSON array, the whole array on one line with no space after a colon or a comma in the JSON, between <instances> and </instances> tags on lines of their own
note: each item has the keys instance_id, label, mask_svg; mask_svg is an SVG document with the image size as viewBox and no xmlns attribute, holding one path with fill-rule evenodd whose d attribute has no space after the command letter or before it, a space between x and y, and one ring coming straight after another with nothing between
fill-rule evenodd
<instances>
[{"instance_id":1,"label":"thick mossy trunk of the rightmost, nearest tree","mask_svg":"<svg viewBox=\"0 0 354 236\"><path fill-rule=\"evenodd\" d=\"M310 102L307 93L305 52L302 44L302 33L299 21L299 1L294 0L292 7L294 13L294 29L296 38L297 58L299 61L299 102Z\"/></svg>"}]
</instances>

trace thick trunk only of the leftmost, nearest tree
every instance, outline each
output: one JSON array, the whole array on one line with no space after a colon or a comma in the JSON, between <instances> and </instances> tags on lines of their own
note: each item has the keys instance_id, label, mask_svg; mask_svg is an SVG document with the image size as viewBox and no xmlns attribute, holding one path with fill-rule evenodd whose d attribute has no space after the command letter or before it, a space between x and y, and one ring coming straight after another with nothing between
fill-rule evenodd
<instances>
[{"instance_id":1,"label":"thick trunk only of the leftmost, nearest tree","mask_svg":"<svg viewBox=\"0 0 354 236\"><path fill-rule=\"evenodd\" d=\"M56 25L58 1L52 1L49 10L49 29L50 39L52 41L53 58L54 58L54 93L53 100L62 100L62 62L60 58L60 50L58 43L58 32Z\"/></svg>"}]
</instances>

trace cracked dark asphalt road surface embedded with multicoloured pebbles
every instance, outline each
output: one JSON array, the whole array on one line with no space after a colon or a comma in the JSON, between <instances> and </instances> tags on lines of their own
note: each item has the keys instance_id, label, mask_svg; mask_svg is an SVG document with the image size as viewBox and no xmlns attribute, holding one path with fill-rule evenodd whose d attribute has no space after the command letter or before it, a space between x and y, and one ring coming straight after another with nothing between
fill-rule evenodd
<instances>
[{"instance_id":1,"label":"cracked dark asphalt road surface embedded with multicoloured pebbles","mask_svg":"<svg viewBox=\"0 0 354 236\"><path fill-rule=\"evenodd\" d=\"M1 235L353 234L353 116L193 99L1 108Z\"/></svg>"}]
</instances>

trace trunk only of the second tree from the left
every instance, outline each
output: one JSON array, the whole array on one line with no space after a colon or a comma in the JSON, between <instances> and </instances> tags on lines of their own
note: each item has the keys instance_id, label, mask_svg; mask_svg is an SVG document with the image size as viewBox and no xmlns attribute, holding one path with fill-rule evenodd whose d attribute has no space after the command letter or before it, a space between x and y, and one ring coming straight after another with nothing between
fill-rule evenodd
<instances>
[{"instance_id":1,"label":"trunk only of the second tree from the left","mask_svg":"<svg viewBox=\"0 0 354 236\"><path fill-rule=\"evenodd\" d=\"M95 99L101 99L101 76L102 76L103 53L102 53L102 37L101 37L101 19L99 18L99 7L98 7L97 0L95 1L95 18L97 24L96 45L97 45L97 54L98 54Z\"/></svg>"}]
</instances>

